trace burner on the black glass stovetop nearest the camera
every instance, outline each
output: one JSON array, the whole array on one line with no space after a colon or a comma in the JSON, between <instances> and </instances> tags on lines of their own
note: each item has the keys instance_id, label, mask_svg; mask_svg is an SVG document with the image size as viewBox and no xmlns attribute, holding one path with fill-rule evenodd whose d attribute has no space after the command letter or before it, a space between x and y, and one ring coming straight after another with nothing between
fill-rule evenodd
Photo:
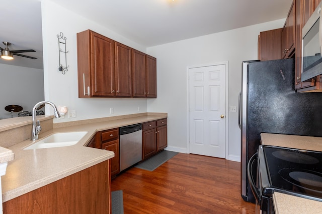
<instances>
[{"instance_id":1,"label":"burner on the black glass stovetop nearest the camera","mask_svg":"<svg viewBox=\"0 0 322 214\"><path fill-rule=\"evenodd\" d=\"M309 191L319 192L322 195L322 174L306 169L284 168L278 172L280 176L296 185L303 188L303 192ZM306 190L305 190L306 189ZM309 191L307 191L309 190Z\"/></svg>"}]
</instances>

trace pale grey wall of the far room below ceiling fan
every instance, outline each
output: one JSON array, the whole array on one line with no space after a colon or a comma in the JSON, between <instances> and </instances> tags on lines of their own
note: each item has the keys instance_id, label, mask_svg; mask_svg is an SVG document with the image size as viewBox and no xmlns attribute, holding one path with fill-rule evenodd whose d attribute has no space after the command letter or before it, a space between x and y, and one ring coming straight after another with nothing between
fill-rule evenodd
<instances>
[{"instance_id":1,"label":"pale grey wall of the far room below ceiling fan","mask_svg":"<svg viewBox=\"0 0 322 214\"><path fill-rule=\"evenodd\" d=\"M0 64L0 77L0 119L11 118L11 113L5 110L8 105L19 105L30 112L37 102L44 100L42 69Z\"/></svg>"}]
</instances>

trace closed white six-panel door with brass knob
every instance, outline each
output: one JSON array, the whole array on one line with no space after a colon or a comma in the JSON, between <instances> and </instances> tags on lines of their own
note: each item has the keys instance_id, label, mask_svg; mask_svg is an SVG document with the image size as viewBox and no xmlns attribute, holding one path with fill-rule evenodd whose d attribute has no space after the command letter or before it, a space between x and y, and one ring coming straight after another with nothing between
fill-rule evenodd
<instances>
[{"instance_id":1,"label":"closed white six-panel door with brass knob","mask_svg":"<svg viewBox=\"0 0 322 214\"><path fill-rule=\"evenodd\" d=\"M225 64L189 68L190 153L225 158L225 72Z\"/></svg>"}]
</instances>

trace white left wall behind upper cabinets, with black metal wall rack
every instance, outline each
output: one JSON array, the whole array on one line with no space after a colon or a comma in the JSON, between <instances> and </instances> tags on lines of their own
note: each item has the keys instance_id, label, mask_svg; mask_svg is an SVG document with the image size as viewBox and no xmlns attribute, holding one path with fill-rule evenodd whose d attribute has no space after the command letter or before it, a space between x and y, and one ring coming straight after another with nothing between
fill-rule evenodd
<instances>
[{"instance_id":1,"label":"white left wall behind upper cabinets, with black metal wall rack","mask_svg":"<svg viewBox=\"0 0 322 214\"><path fill-rule=\"evenodd\" d=\"M146 48L122 37L82 16L68 11L51 1L42 1L42 29L44 52L45 99L56 106L67 106L76 110L76 118L55 119L54 123L99 117L146 112L146 99L139 98L78 98L77 91L77 47L76 34L91 29L115 41L146 52ZM58 71L58 39L60 32L67 38L66 50L68 71L62 75ZM140 111L137 111L139 107ZM110 108L114 113L110 114ZM46 112L53 114L50 106Z\"/></svg>"}]
</instances>

